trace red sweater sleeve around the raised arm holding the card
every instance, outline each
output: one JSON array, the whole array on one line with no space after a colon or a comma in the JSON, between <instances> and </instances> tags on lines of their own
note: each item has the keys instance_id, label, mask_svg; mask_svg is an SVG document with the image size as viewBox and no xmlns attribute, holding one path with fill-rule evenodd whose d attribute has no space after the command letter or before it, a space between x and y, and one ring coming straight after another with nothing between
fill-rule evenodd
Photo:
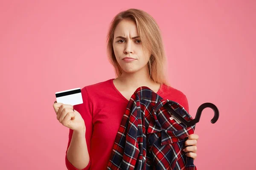
<instances>
[{"instance_id":1,"label":"red sweater sleeve around the raised arm holding the card","mask_svg":"<svg viewBox=\"0 0 256 170\"><path fill-rule=\"evenodd\" d=\"M85 124L85 127L86 127L85 139L86 139L86 143L87 143L88 153L89 153L89 156L90 156L90 143L91 143L91 136L92 136L92 132L93 132L92 104L91 104L89 95L87 93L87 88L86 87L81 89L81 94L82 94L83 103L79 104L79 105L74 105L73 108L76 111L78 111L81 114L82 118L84 119L84 124ZM73 135L73 130L70 129L68 144L67 144L67 150L68 150L68 147L70 146L72 135ZM65 156L65 163L66 163L67 169L68 170L79 170L76 167L74 167L70 163L70 161L67 159L67 150L66 150L66 156ZM89 164L83 170L89 170L89 168L90 168L90 159L89 159Z\"/></svg>"}]
</instances>

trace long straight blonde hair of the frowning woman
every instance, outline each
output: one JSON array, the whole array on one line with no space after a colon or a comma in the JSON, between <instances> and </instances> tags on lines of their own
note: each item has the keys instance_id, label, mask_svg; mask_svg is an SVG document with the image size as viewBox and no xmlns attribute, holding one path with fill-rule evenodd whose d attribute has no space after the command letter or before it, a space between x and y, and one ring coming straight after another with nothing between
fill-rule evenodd
<instances>
[{"instance_id":1,"label":"long straight blonde hair of the frowning woman","mask_svg":"<svg viewBox=\"0 0 256 170\"><path fill-rule=\"evenodd\" d=\"M108 30L107 54L109 61L115 69L116 77L119 77L122 74L122 68L118 64L113 51L113 38L116 26L124 19L132 20L136 23L137 30L142 41L143 51L147 50L151 52L151 56L148 61L150 78L154 82L168 85L169 83L166 78L166 54L160 28L151 15L143 10L134 8L121 11L117 14L113 18Z\"/></svg>"}]
</instances>

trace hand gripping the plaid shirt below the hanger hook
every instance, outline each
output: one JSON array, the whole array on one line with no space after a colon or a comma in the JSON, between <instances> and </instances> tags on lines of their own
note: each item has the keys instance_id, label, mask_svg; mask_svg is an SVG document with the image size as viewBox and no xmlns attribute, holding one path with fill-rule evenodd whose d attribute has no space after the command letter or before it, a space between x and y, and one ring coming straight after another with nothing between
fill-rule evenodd
<instances>
[{"instance_id":1,"label":"hand gripping the plaid shirt below the hanger hook","mask_svg":"<svg viewBox=\"0 0 256 170\"><path fill-rule=\"evenodd\" d=\"M189 156L193 158L194 160L197 157L196 151L197 151L197 140L199 138L196 134L191 134L187 136L188 139L185 142L185 148L183 149L184 152L186 152L186 156Z\"/></svg>"}]
</instances>

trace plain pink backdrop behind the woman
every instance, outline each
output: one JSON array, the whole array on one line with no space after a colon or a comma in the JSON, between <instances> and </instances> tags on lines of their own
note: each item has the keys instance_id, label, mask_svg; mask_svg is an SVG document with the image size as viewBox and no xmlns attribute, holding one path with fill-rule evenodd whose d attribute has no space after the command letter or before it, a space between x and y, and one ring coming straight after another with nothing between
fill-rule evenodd
<instances>
[{"instance_id":1,"label":"plain pink backdrop behind the woman","mask_svg":"<svg viewBox=\"0 0 256 170\"><path fill-rule=\"evenodd\" d=\"M154 1L156 2L156 1ZM255 167L256 3L253 0L6 1L0 4L0 169L66 169L68 129L55 92L114 78L106 35L121 10L140 8L160 26L169 80L186 94L198 170Z\"/></svg>"}]
</instances>

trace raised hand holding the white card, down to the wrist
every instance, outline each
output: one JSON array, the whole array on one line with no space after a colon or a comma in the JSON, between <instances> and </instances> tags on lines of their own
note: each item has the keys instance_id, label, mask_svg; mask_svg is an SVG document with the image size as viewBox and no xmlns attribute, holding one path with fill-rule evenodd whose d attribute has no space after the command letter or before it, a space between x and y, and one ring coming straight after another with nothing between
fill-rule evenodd
<instances>
[{"instance_id":1,"label":"raised hand holding the white card, down to the wrist","mask_svg":"<svg viewBox=\"0 0 256 170\"><path fill-rule=\"evenodd\" d=\"M66 105L55 101L53 108L58 121L62 125L77 132L85 131L84 119L78 111L73 110L73 105Z\"/></svg>"}]
</instances>

